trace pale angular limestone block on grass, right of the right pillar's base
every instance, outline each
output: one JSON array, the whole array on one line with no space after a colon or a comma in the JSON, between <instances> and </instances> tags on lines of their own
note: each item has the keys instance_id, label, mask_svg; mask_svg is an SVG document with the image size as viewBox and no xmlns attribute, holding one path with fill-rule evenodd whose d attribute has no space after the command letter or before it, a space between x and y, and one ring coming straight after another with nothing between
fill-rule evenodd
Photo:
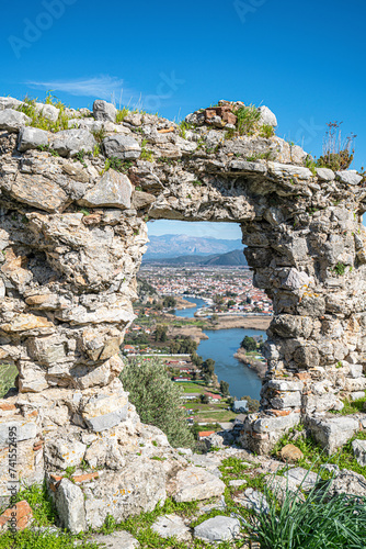
<instances>
[{"instance_id":1,"label":"pale angular limestone block on grass, right of the right pillar's base","mask_svg":"<svg viewBox=\"0 0 366 549\"><path fill-rule=\"evenodd\" d=\"M331 455L353 437L359 428L359 422L351 416L331 418L313 416L307 417L307 426L317 442Z\"/></svg>"}]
</instances>

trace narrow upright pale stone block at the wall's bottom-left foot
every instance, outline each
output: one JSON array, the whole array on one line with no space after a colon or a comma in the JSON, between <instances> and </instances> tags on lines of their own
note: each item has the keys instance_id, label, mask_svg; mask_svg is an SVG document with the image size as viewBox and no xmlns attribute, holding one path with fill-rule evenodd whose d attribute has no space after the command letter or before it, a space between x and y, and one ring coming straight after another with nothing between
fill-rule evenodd
<instances>
[{"instance_id":1,"label":"narrow upright pale stone block at the wall's bottom-left foot","mask_svg":"<svg viewBox=\"0 0 366 549\"><path fill-rule=\"evenodd\" d=\"M57 488L55 503L64 528L71 534L85 530L84 496L79 486L64 478Z\"/></svg>"}]
</instances>

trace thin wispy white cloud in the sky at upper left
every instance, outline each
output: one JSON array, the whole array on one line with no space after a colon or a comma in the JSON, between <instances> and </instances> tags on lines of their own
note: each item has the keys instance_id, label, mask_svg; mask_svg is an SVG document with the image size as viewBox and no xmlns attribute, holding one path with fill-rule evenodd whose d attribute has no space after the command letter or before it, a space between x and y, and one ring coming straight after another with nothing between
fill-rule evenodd
<instances>
[{"instance_id":1,"label":"thin wispy white cloud in the sky at upper left","mask_svg":"<svg viewBox=\"0 0 366 549\"><path fill-rule=\"evenodd\" d=\"M126 97L127 92L130 96L130 91L123 89L123 80L121 78L108 75L76 80L27 81L25 83L34 88L65 91L71 96L93 97L106 100L116 98L117 102L122 94Z\"/></svg>"}]
</instances>

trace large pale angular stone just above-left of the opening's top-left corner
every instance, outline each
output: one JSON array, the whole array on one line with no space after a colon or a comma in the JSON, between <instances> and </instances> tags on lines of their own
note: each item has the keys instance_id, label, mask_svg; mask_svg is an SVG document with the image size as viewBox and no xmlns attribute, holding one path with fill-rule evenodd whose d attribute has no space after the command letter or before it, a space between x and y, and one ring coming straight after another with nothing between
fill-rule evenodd
<instances>
[{"instance_id":1,"label":"large pale angular stone just above-left of the opening's top-left corner","mask_svg":"<svg viewBox=\"0 0 366 549\"><path fill-rule=\"evenodd\" d=\"M90 191L78 201L89 208L130 208L133 186L124 173L108 170Z\"/></svg>"}]
</instances>

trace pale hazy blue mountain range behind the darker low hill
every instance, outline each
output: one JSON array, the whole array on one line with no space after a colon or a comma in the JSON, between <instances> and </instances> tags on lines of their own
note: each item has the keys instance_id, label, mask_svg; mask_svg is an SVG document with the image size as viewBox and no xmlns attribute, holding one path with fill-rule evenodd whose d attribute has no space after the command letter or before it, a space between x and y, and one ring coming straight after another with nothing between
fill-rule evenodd
<instances>
[{"instance_id":1,"label":"pale hazy blue mountain range behind the darker low hill","mask_svg":"<svg viewBox=\"0 0 366 549\"><path fill-rule=\"evenodd\" d=\"M209 256L227 254L242 246L240 238L235 240L219 239L211 236L161 235L149 236L150 244L145 254L146 259L179 256Z\"/></svg>"}]
</instances>

